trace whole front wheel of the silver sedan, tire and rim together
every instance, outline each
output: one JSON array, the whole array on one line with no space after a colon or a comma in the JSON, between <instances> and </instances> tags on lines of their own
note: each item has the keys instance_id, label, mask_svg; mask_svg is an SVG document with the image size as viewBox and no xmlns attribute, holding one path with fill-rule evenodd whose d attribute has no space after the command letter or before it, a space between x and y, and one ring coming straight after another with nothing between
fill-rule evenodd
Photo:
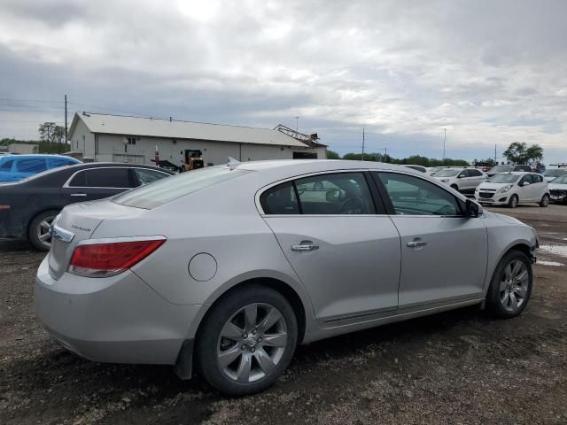
<instances>
[{"instance_id":1,"label":"whole front wheel of the silver sedan, tire and rim together","mask_svg":"<svg viewBox=\"0 0 567 425\"><path fill-rule=\"evenodd\" d=\"M532 294L532 263L522 251L509 251L496 267L486 294L486 307L510 319L524 311Z\"/></svg>"}]
</instances>

